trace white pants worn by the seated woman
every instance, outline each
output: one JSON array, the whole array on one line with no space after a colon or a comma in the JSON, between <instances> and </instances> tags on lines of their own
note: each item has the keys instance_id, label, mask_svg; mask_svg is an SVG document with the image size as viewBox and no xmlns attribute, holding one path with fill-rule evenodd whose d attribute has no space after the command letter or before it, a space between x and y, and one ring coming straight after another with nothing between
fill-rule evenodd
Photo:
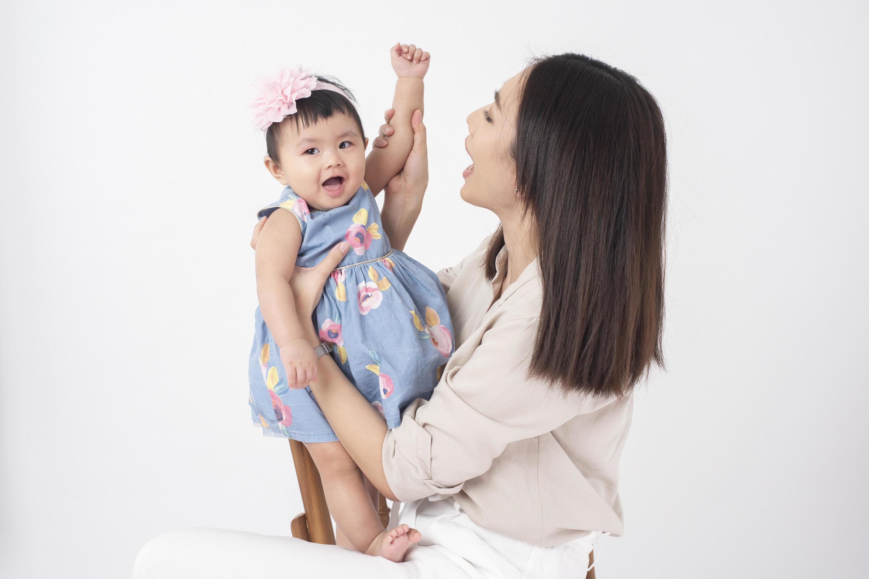
<instances>
[{"instance_id":1,"label":"white pants worn by the seated woman","mask_svg":"<svg viewBox=\"0 0 869 579\"><path fill-rule=\"evenodd\" d=\"M539 547L483 529L452 498L402 504L392 510L389 526L401 523L422 534L404 563L291 536L171 530L145 544L136 557L133 579L583 579L597 535Z\"/></svg>"}]
</instances>

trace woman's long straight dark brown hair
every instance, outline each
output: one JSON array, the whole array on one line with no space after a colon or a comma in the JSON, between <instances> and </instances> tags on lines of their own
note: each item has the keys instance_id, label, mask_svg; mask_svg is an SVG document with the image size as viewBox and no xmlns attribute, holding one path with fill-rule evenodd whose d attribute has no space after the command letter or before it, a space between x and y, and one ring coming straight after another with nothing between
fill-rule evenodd
<instances>
[{"instance_id":1,"label":"woman's long straight dark brown hair","mask_svg":"<svg viewBox=\"0 0 869 579\"><path fill-rule=\"evenodd\" d=\"M534 59L523 80L512 155L543 288L528 375L624 396L664 367L663 115L634 76L589 56ZM503 246L499 227L488 280Z\"/></svg>"}]
</instances>

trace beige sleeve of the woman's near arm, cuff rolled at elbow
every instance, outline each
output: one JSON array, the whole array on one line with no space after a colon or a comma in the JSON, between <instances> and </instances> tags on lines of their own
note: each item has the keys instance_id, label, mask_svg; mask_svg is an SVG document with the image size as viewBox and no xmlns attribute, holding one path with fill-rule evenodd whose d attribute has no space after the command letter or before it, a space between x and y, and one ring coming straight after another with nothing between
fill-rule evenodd
<instances>
[{"instance_id":1,"label":"beige sleeve of the woman's near arm, cuff rolled at elbow","mask_svg":"<svg viewBox=\"0 0 869 579\"><path fill-rule=\"evenodd\" d=\"M483 332L467 361L448 367L431 398L416 398L387 431L383 469L401 502L458 492L507 444L552 431L580 412L579 395L526 378L538 321L510 319Z\"/></svg>"}]
</instances>

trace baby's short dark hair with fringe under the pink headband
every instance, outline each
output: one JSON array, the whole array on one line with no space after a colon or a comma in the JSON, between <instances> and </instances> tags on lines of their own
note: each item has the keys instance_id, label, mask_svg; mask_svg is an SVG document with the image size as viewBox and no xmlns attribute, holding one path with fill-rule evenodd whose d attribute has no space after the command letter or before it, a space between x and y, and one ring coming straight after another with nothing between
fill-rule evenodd
<instances>
[{"instance_id":1,"label":"baby's short dark hair with fringe under the pink headband","mask_svg":"<svg viewBox=\"0 0 869 579\"><path fill-rule=\"evenodd\" d=\"M341 89L343 95L336 93L334 90L312 90L310 96L300 98L295 102L295 113L284 117L281 122L273 122L269 125L266 131L266 152L280 167L281 161L278 159L278 143L281 142L283 125L286 122L295 122L295 128L299 128L299 122L302 122L302 127L331 118L338 113L344 113L352 118L359 127L359 134L362 135L362 141L365 141L365 130L362 128L362 119L359 118L359 113L356 112L354 103L355 96L350 92L350 89L345 87L334 76L317 75L317 78L322 82L328 82L336 88ZM346 95L346 96L344 96ZM352 100L352 102L351 102Z\"/></svg>"}]
</instances>

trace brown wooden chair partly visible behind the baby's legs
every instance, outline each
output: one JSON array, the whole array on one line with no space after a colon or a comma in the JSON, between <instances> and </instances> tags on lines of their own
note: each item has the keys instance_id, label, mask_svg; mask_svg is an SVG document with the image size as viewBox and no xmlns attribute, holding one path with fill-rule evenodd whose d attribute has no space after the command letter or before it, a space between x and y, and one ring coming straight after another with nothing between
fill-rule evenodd
<instances>
[{"instance_id":1,"label":"brown wooden chair partly visible behind the baby's legs","mask_svg":"<svg viewBox=\"0 0 869 579\"><path fill-rule=\"evenodd\" d=\"M302 505L305 508L305 512L293 517L289 528L297 539L334 545L335 531L332 530L332 517L328 514L326 495L323 494L323 484L314 459L303 443L292 438L288 440L289 448L293 452L295 476L299 479L299 490L302 492ZM386 527L389 523L389 507L386 497L380 494L378 497L377 514ZM588 564L591 563L594 563L594 552L588 555ZM586 579L595 579L594 569L588 571Z\"/></svg>"}]
</instances>

